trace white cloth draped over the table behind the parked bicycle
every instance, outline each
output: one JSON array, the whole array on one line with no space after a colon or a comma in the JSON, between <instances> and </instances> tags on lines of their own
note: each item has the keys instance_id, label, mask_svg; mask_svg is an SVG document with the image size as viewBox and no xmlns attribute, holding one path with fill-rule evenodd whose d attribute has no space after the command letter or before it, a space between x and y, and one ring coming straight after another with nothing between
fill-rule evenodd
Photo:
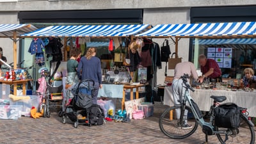
<instances>
[{"instance_id":1,"label":"white cloth draped over the table behind the parked bicycle","mask_svg":"<svg viewBox=\"0 0 256 144\"><path fill-rule=\"evenodd\" d=\"M195 92L190 91L190 95L201 111L209 111L213 102L213 99L210 98L211 95L226 96L227 100L221 104L234 102L237 106L247 108L249 116L256 117L256 92L195 89ZM164 105L174 105L171 86L164 88Z\"/></svg>"}]
</instances>

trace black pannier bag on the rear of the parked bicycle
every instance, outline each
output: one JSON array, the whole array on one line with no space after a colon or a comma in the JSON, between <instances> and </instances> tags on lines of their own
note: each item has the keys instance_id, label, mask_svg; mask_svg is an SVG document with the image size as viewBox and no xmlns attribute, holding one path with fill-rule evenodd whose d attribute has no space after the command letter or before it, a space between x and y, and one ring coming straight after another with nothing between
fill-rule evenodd
<instances>
[{"instance_id":1,"label":"black pannier bag on the rear of the parked bicycle","mask_svg":"<svg viewBox=\"0 0 256 144\"><path fill-rule=\"evenodd\" d=\"M236 129L240 125L240 107L234 103L221 104L214 108L214 124L217 127Z\"/></svg>"}]
</instances>

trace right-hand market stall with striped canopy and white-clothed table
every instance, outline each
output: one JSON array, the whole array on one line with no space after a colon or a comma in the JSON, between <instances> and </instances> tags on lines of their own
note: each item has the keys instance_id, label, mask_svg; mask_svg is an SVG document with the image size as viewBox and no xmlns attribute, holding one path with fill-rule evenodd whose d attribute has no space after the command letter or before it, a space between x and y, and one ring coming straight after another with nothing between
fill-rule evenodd
<instances>
[{"instance_id":1,"label":"right-hand market stall with striped canopy and white-clothed table","mask_svg":"<svg viewBox=\"0 0 256 144\"><path fill-rule=\"evenodd\" d=\"M242 44L254 44L256 38L256 22L221 22L221 23L201 23L201 24L158 24L154 28L138 34L139 37L147 38L172 38L175 37L175 58L178 58L178 42L180 38L204 38L205 43L214 42L223 44L225 42L240 42ZM218 38L222 38L218 40ZM209 40L208 40L209 39ZM211 40L210 40L211 39ZM200 39L199 39L200 40ZM194 44L200 44L198 39ZM197 56L194 62L197 63ZM251 116L255 116L255 102L253 97L255 92L245 92L243 90L232 92L227 90L196 90L191 92L195 102L199 104L201 110L206 111L211 105L211 95L225 95L228 99L225 102L236 102L240 106L248 108ZM170 86L164 87L164 104L173 105L172 92ZM253 101L253 102L252 102Z\"/></svg>"}]
</instances>

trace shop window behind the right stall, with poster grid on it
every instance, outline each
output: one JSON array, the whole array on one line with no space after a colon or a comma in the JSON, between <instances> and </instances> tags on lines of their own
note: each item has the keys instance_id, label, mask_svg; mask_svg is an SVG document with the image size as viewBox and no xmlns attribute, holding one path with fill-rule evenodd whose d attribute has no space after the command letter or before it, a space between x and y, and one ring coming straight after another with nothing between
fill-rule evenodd
<instances>
[{"instance_id":1,"label":"shop window behind the right stall, with poster grid on it","mask_svg":"<svg viewBox=\"0 0 256 144\"><path fill-rule=\"evenodd\" d=\"M197 68L200 68L198 64L200 54L205 54L207 58L216 60L221 68L222 77L236 79L241 75L243 76L244 68L251 67L253 70L256 68L256 38L195 38L193 40L192 61Z\"/></svg>"}]
</instances>

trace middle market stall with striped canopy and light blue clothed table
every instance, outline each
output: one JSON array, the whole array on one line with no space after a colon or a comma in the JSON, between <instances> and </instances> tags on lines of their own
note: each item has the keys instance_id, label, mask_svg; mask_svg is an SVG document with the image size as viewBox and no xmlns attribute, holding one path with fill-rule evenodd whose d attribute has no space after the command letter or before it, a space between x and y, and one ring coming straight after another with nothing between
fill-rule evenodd
<instances>
[{"instance_id":1,"label":"middle market stall with striped canopy and light blue clothed table","mask_svg":"<svg viewBox=\"0 0 256 144\"><path fill-rule=\"evenodd\" d=\"M36 31L33 31L31 33L26 33L22 35L23 37L54 37L54 38L64 38L64 47L65 49L67 48L65 44L67 44L67 39L68 38L110 38L115 40L118 40L117 38L126 38L129 36L136 35L138 33L142 33L144 31L147 31L150 29L151 26L149 24L131 24L131 25L81 25L81 26L49 26L47 28L42 28L42 29L37 29ZM122 42L116 42L115 41L115 47L118 47L122 45ZM64 60L67 60L67 53L64 54ZM118 57L119 58L119 57ZM122 60L123 61L123 60ZM122 62L120 61L120 62ZM120 68L115 68L115 70L118 70ZM112 68L112 72L115 71ZM122 68L125 69L125 68ZM109 70L111 71L111 70ZM119 70L120 71L120 70ZM125 70L127 71L127 70ZM102 70L103 72L103 70ZM120 71L120 74L124 72L124 70ZM127 77L130 77L129 74L126 74ZM124 79L124 77L123 77ZM108 81L109 82L109 81ZM116 82L116 81L112 81ZM120 81L118 81L120 82ZM124 81L123 81L124 82ZM128 81L125 81L128 82ZM124 90L129 89L133 93L133 88L136 88L136 99L138 99L138 86L142 85L136 85L136 86L127 86L124 83L118 83L121 85L116 85L116 86L121 86L122 90L116 91L118 94L113 96L111 93L108 93L109 88L111 88L112 84L104 84L104 87L102 90L99 92L99 97L104 96L104 97L120 97L123 99L122 102L122 108L124 108ZM126 83L127 84L127 83ZM115 86L115 85L114 85ZM119 90L119 89L115 89ZM120 95L120 96L118 96Z\"/></svg>"}]
</instances>

